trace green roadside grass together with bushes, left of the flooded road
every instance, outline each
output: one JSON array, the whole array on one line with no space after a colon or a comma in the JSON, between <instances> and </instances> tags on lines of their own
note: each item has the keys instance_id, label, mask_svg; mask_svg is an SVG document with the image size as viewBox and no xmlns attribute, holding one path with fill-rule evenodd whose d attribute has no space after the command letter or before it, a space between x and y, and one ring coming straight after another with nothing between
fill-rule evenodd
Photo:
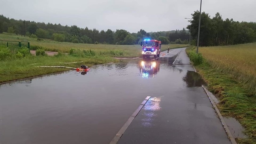
<instances>
[{"instance_id":1,"label":"green roadside grass together with bushes, left of the flooded road","mask_svg":"<svg viewBox=\"0 0 256 144\"><path fill-rule=\"evenodd\" d=\"M66 66L76 68L80 67L81 64L92 66L117 61L109 56L93 56L83 51L76 51L68 55L60 52L54 56L47 56L44 54L43 49L38 49L36 53L37 55L31 55L29 49L26 47L10 50L0 46L0 83L69 70L69 68L36 66ZM78 63L64 64L63 62Z\"/></svg>"}]
</instances>

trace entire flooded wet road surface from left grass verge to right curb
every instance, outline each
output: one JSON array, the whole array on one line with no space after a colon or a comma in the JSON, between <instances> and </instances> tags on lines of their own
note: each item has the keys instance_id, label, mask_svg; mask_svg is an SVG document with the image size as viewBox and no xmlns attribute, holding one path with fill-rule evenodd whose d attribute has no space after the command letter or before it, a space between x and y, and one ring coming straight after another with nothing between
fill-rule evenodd
<instances>
[{"instance_id":1,"label":"entire flooded wet road surface from left grass verge to right curb","mask_svg":"<svg viewBox=\"0 0 256 144\"><path fill-rule=\"evenodd\" d=\"M1 85L0 143L108 144L146 96L118 143L229 143L193 71L181 48Z\"/></svg>"}]
</instances>

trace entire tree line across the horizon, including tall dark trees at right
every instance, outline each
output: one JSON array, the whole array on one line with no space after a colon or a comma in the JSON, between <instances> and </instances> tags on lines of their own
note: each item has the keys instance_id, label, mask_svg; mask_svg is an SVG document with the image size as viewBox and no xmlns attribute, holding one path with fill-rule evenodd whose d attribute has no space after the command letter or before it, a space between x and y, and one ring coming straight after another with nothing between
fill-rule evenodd
<instances>
[{"instance_id":1,"label":"entire tree line across the horizon, including tall dark trees at right","mask_svg":"<svg viewBox=\"0 0 256 144\"><path fill-rule=\"evenodd\" d=\"M192 13L191 43L196 45L199 11ZM188 30L172 30L163 32L146 32L140 29L137 33L130 33L124 29L112 31L79 28L78 26L62 26L44 22L23 21L0 15L0 33L9 32L26 35L32 38L52 39L60 42L88 43L88 44L140 44L144 38L157 39L163 44L188 44L190 25ZM25 34L24 34L25 32ZM233 19L223 20L220 13L213 18L208 13L201 15L200 46L232 45L256 41L256 23L238 22Z\"/></svg>"}]
</instances>

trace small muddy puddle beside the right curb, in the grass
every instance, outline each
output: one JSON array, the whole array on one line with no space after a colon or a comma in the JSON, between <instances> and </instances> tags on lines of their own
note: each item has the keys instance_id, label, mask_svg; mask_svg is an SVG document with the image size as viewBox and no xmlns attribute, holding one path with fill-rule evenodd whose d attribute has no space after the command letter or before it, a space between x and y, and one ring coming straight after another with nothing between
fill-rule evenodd
<instances>
[{"instance_id":1,"label":"small muddy puddle beside the right curb, in the grass","mask_svg":"<svg viewBox=\"0 0 256 144\"><path fill-rule=\"evenodd\" d=\"M245 128L243 128L242 125L235 118L223 118L234 138L247 138L247 136L242 133L243 131L245 131Z\"/></svg>"}]
</instances>

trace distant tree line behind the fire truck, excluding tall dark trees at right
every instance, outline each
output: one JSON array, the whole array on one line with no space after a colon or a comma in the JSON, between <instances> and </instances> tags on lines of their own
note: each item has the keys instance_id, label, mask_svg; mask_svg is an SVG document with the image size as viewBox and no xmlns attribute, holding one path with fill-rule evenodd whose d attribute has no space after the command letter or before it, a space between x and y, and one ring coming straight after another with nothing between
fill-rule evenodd
<instances>
[{"instance_id":1,"label":"distant tree line behind the fire truck, excluding tall dark trees at right","mask_svg":"<svg viewBox=\"0 0 256 144\"><path fill-rule=\"evenodd\" d=\"M62 26L44 22L23 21L0 15L0 33L16 33L32 38L52 39L60 42L88 43L88 44L139 44L144 38L162 41L163 44L187 42L189 33L185 29L168 32L146 32L140 29L137 33L130 33L124 29L112 31L79 28L78 26ZM175 42L176 41L176 42Z\"/></svg>"}]
</instances>

